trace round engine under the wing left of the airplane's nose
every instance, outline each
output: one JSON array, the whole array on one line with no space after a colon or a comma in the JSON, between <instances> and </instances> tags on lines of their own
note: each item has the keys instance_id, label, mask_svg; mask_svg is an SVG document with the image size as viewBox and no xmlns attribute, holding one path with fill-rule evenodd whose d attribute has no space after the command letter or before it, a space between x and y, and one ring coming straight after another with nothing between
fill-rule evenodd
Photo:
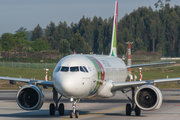
<instances>
[{"instance_id":1,"label":"round engine under the wing left of the airplane's nose","mask_svg":"<svg viewBox=\"0 0 180 120\"><path fill-rule=\"evenodd\" d=\"M39 87L28 84L19 89L16 100L24 110L39 110L44 103L44 93Z\"/></svg>"}]
</instances>

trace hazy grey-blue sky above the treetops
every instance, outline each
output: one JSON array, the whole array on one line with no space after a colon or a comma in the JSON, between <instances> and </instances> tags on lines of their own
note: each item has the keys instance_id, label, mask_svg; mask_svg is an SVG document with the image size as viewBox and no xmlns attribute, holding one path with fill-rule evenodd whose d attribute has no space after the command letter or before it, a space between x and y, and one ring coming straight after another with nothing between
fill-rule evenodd
<instances>
[{"instance_id":1,"label":"hazy grey-blue sky above the treetops","mask_svg":"<svg viewBox=\"0 0 180 120\"><path fill-rule=\"evenodd\" d=\"M103 19L114 15L116 0L0 0L0 35L15 33L20 27L33 30L37 24L44 29L52 21L68 25L78 23L84 15ZM118 0L118 20L126 13L142 6L151 6L158 0ZM163 0L165 1L165 0ZM180 5L180 0L171 0L171 6Z\"/></svg>"}]
</instances>

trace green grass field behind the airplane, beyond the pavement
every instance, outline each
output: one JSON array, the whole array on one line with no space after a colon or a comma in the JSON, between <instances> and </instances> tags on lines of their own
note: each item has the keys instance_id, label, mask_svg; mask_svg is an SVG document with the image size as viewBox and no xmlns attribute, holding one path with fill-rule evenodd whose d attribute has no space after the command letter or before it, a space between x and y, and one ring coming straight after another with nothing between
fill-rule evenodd
<instances>
[{"instance_id":1,"label":"green grass field behind the airplane, beyond the pavement","mask_svg":"<svg viewBox=\"0 0 180 120\"><path fill-rule=\"evenodd\" d=\"M48 75L52 76L53 69L48 71ZM169 67L169 68L143 68L142 75L143 80L153 80L162 78L174 78L180 77L180 66ZM137 75L139 78L139 69L132 69L132 75ZM31 68L11 68L11 67L0 67L0 76L9 77L22 77L22 78L35 78L44 80L45 70L44 69L31 69ZM19 86L23 86L24 83L18 83L16 85L10 85L9 81L0 80L0 90L18 90ZM157 87L161 88L180 88L177 82L157 84ZM41 87L42 88L42 87Z\"/></svg>"}]
</instances>

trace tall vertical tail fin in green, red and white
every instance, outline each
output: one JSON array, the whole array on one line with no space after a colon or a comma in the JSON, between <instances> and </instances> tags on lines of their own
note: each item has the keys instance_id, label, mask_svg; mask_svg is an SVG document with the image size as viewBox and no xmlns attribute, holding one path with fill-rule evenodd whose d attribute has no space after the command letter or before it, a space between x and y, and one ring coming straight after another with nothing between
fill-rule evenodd
<instances>
[{"instance_id":1,"label":"tall vertical tail fin in green, red and white","mask_svg":"<svg viewBox=\"0 0 180 120\"><path fill-rule=\"evenodd\" d=\"M115 3L111 50L109 56L117 57L117 35L118 35L118 1Z\"/></svg>"}]
</instances>

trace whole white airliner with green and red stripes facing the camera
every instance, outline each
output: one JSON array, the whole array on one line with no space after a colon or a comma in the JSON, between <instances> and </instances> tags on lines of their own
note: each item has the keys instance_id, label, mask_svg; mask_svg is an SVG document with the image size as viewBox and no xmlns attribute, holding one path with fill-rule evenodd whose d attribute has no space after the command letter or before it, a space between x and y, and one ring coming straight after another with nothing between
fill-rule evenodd
<instances>
[{"instance_id":1,"label":"whole white airliner with green and red stripes facing the camera","mask_svg":"<svg viewBox=\"0 0 180 120\"><path fill-rule=\"evenodd\" d=\"M140 116L141 110L159 109L162 104L162 93L154 86L155 83L180 81L180 78L155 79L146 81L127 82L127 69L171 64L174 62L161 62L126 66L124 61L117 57L117 27L118 27L118 1L115 2L115 14L113 21L111 49L109 55L84 55L72 54L62 58L53 71L53 81L32 80L24 78L3 77L10 84L24 82L16 95L17 104L24 110L39 110L44 102L43 91L38 87L42 85L53 88L53 100L49 106L49 114L64 115L64 104L60 103L62 96L69 99L73 105L70 118L78 118L79 112L76 104L80 99L104 99L116 95L116 91L122 91L127 96L125 89L132 91L130 104L126 104L126 115L132 111ZM138 87L138 88L137 88ZM136 89L137 88L137 89ZM58 97L60 94L60 97Z\"/></svg>"}]
</instances>

